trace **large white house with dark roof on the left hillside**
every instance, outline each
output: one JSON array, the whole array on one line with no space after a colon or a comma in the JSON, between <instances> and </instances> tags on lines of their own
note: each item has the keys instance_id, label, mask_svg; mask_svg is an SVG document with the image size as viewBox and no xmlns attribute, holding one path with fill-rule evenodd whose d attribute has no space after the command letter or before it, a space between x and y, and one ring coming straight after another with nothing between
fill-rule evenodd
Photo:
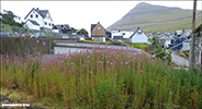
<instances>
[{"instance_id":1,"label":"large white house with dark roof on the left hillside","mask_svg":"<svg viewBox=\"0 0 202 109\"><path fill-rule=\"evenodd\" d=\"M37 28L37 31L40 31L38 28L52 29L52 26L53 26L53 20L48 10L38 10L38 8L37 9L33 8L29 12L29 14L24 17L24 20L25 20L24 27L27 27L30 29L35 29L35 28ZM36 25L35 22L38 25Z\"/></svg>"}]
</instances>

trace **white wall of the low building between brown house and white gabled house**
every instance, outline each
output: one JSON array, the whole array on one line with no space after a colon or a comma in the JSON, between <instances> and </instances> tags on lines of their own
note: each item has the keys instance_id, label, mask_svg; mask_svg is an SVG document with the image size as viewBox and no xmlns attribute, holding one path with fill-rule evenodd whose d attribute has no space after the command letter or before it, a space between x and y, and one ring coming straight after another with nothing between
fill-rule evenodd
<instances>
[{"instance_id":1,"label":"white wall of the low building between brown house and white gabled house","mask_svg":"<svg viewBox=\"0 0 202 109\"><path fill-rule=\"evenodd\" d=\"M112 31L112 39L114 38L114 36L123 36L123 38L130 38L132 34L134 34L133 31Z\"/></svg>"}]
</instances>

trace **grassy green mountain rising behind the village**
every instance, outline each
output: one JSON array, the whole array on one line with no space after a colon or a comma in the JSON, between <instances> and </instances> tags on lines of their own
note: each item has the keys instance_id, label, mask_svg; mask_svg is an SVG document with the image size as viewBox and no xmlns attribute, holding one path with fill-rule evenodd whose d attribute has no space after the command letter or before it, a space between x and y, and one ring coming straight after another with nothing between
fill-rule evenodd
<instances>
[{"instance_id":1,"label":"grassy green mountain rising behind the village","mask_svg":"<svg viewBox=\"0 0 202 109\"><path fill-rule=\"evenodd\" d=\"M144 32L172 32L192 28L192 10L168 8L141 2L121 20L106 29L132 29L141 27ZM195 27L202 23L202 11L197 11Z\"/></svg>"}]
</instances>

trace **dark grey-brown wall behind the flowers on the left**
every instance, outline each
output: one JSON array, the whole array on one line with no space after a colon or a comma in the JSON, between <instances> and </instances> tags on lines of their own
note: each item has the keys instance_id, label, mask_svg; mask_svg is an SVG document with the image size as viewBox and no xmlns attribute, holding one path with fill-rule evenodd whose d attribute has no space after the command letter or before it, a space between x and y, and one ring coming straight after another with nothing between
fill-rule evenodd
<instances>
[{"instance_id":1,"label":"dark grey-brown wall behind the flowers on the left","mask_svg":"<svg viewBox=\"0 0 202 109\"><path fill-rule=\"evenodd\" d=\"M40 40L40 43L36 43ZM79 38L21 38L0 37L0 55L24 56L26 53L43 52L50 55L54 49L54 40L79 40ZM43 45L45 43L46 45Z\"/></svg>"}]
</instances>

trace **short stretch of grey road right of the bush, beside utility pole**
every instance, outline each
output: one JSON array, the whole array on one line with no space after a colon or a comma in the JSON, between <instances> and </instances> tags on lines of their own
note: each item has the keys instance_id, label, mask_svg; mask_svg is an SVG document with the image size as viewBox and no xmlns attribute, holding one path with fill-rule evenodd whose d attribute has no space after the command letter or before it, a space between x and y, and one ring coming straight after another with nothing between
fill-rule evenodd
<instances>
[{"instance_id":1,"label":"short stretch of grey road right of the bush, beside utility pole","mask_svg":"<svg viewBox=\"0 0 202 109\"><path fill-rule=\"evenodd\" d=\"M176 55L175 51L172 51L171 57L172 57L172 59L171 59L172 62L176 62L176 64L189 66L189 60Z\"/></svg>"}]
</instances>

